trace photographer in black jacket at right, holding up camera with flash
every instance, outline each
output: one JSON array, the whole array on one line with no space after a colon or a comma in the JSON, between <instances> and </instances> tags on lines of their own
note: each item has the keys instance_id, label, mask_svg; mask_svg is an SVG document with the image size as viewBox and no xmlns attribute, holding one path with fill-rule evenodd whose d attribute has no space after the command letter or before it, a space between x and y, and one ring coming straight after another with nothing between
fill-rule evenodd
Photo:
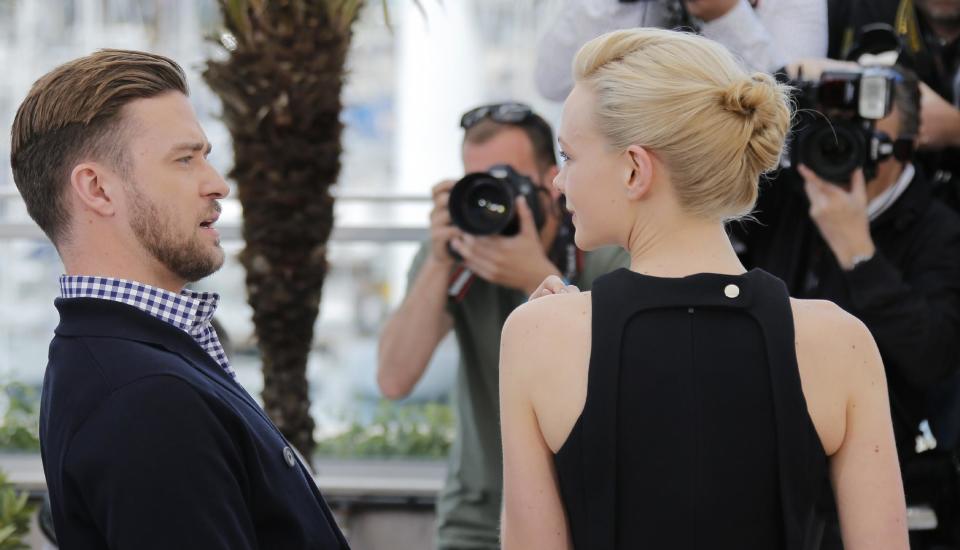
<instances>
[{"instance_id":1,"label":"photographer in black jacket at right, holding up camera with flash","mask_svg":"<svg viewBox=\"0 0 960 550\"><path fill-rule=\"evenodd\" d=\"M799 173L783 170L761 186L759 223L731 230L745 265L783 279L791 296L837 303L870 329L887 372L908 503L939 507L942 493L954 488L931 495L912 484L911 472L920 456L915 447L926 392L957 366L960 219L933 199L922 172L903 154L919 126L916 77L900 70L892 83L893 109L876 131L892 138L900 160L880 160L868 181L858 170L847 184L828 182L815 170L828 172L823 165L837 159L803 158L808 149L795 134L792 160L806 166ZM831 116L830 124L837 129L843 121ZM937 514L946 528L948 513L940 508ZM914 548L926 546L914 541Z\"/></svg>"}]
</instances>

